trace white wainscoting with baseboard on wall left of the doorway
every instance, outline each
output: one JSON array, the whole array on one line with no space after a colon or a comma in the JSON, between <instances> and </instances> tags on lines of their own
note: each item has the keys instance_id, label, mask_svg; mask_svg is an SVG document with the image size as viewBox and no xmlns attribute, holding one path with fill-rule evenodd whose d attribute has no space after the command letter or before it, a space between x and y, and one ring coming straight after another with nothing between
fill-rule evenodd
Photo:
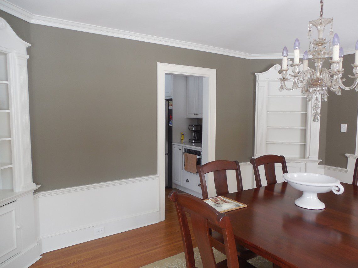
<instances>
[{"instance_id":1,"label":"white wainscoting with baseboard on wall left of the doorway","mask_svg":"<svg viewBox=\"0 0 358 268\"><path fill-rule=\"evenodd\" d=\"M42 252L159 222L158 175L34 195ZM94 229L104 227L103 234Z\"/></svg>"}]
</instances>

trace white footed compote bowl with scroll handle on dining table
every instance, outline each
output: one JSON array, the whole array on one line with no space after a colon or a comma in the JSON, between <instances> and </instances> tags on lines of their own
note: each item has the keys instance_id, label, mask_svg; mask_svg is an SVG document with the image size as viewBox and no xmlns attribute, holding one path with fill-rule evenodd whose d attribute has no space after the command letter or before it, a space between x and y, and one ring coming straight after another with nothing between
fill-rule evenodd
<instances>
[{"instance_id":1,"label":"white footed compote bowl with scroll handle on dining table","mask_svg":"<svg viewBox=\"0 0 358 268\"><path fill-rule=\"evenodd\" d=\"M295 204L301 208L324 209L326 206L318 199L318 193L328 193L330 190L335 194L344 192L339 180L321 174L285 173L284 181L293 188L303 191L302 196L295 201Z\"/></svg>"}]
</instances>

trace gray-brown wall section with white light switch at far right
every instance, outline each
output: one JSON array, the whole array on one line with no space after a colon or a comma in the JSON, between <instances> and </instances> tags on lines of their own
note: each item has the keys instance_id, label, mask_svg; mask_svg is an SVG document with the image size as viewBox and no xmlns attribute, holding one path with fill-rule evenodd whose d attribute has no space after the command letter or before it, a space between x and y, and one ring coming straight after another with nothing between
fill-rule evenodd
<instances>
[{"instance_id":1,"label":"gray-brown wall section with white light switch at far right","mask_svg":"<svg viewBox=\"0 0 358 268\"><path fill-rule=\"evenodd\" d=\"M344 85L350 86L353 79L352 63L354 54L343 57ZM358 93L354 90L342 90L342 95L328 93L328 116L326 134L325 164L347 168L347 157L344 154L355 154L355 137L357 133ZM347 124L347 133L340 132L340 125Z\"/></svg>"}]
</instances>

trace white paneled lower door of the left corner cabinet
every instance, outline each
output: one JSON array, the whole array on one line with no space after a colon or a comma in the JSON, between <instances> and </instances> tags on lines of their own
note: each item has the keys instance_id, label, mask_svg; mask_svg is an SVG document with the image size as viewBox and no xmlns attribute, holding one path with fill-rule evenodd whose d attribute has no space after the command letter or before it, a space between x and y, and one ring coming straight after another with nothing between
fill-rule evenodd
<instances>
[{"instance_id":1,"label":"white paneled lower door of the left corner cabinet","mask_svg":"<svg viewBox=\"0 0 358 268\"><path fill-rule=\"evenodd\" d=\"M21 250L19 202L0 207L0 263Z\"/></svg>"}]
</instances>

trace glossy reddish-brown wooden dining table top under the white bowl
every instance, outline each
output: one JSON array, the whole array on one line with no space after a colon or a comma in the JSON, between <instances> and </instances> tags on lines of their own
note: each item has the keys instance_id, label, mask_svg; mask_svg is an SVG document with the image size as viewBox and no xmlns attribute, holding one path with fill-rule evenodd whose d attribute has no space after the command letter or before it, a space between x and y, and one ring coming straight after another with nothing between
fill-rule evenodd
<instances>
[{"instance_id":1,"label":"glossy reddish-brown wooden dining table top under the white bowl","mask_svg":"<svg viewBox=\"0 0 358 268\"><path fill-rule=\"evenodd\" d=\"M247 204L226 212L235 240L280 267L358 267L358 187L318 194L326 205L295 205L302 192L286 182L224 196Z\"/></svg>"}]
</instances>

